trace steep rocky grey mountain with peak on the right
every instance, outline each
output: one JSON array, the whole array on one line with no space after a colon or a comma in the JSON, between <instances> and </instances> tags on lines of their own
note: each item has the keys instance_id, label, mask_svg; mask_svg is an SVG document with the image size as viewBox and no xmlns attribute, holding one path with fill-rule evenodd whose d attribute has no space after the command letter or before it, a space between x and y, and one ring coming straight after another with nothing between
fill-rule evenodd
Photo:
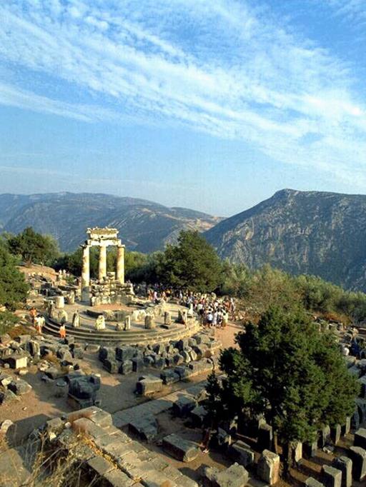
<instances>
[{"instance_id":1,"label":"steep rocky grey mountain with peak on the right","mask_svg":"<svg viewBox=\"0 0 366 487\"><path fill-rule=\"evenodd\" d=\"M366 291L366 196L284 189L204 235L222 258Z\"/></svg>"}]
</instances>

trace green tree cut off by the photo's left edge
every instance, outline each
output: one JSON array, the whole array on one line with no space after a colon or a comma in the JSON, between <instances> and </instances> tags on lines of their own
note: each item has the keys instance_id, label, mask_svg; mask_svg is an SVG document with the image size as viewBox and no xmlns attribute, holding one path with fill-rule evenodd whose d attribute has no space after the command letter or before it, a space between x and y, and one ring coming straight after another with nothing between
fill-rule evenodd
<instances>
[{"instance_id":1,"label":"green tree cut off by the photo's left edge","mask_svg":"<svg viewBox=\"0 0 366 487\"><path fill-rule=\"evenodd\" d=\"M0 305L10 310L26 299L29 286L24 274L16 267L16 258L0 246Z\"/></svg>"}]
</instances>

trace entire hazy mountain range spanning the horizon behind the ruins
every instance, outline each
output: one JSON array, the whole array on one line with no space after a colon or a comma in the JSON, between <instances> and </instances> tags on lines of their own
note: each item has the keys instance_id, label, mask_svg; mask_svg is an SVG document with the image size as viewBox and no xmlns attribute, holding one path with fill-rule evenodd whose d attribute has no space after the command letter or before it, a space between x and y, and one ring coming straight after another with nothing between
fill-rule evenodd
<instances>
[{"instance_id":1,"label":"entire hazy mountain range spanning the horizon behind the ruins","mask_svg":"<svg viewBox=\"0 0 366 487\"><path fill-rule=\"evenodd\" d=\"M89 226L119 229L127 248L152 252L197 229L219 256L264 263L366 291L366 196L283 189L228 219L106 194L0 195L0 228L32 226L74 251Z\"/></svg>"}]
</instances>

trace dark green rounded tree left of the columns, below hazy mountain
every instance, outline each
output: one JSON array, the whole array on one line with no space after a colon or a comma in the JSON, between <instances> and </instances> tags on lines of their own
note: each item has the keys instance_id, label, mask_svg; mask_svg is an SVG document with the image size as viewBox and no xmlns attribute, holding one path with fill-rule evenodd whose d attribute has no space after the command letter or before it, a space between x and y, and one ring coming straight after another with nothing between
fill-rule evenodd
<instances>
[{"instance_id":1,"label":"dark green rounded tree left of the columns, below hazy mountain","mask_svg":"<svg viewBox=\"0 0 366 487\"><path fill-rule=\"evenodd\" d=\"M16 236L7 239L9 251L28 264L49 264L59 256L59 248L53 237L37 234L34 229L28 227Z\"/></svg>"}]
</instances>

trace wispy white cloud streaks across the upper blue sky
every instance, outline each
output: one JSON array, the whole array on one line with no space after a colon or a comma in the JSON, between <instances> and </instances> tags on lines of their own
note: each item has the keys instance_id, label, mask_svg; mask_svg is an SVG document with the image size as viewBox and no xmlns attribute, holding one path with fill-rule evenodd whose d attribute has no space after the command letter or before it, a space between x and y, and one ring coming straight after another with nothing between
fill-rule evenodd
<instances>
[{"instance_id":1,"label":"wispy white cloud streaks across the upper blue sky","mask_svg":"<svg viewBox=\"0 0 366 487\"><path fill-rule=\"evenodd\" d=\"M362 4L328 1L345 15ZM352 65L291 33L265 2L5 0L0 17L0 59L98 106L21 84L0 85L2 104L81 121L182 124L366 183L365 96Z\"/></svg>"}]
</instances>

